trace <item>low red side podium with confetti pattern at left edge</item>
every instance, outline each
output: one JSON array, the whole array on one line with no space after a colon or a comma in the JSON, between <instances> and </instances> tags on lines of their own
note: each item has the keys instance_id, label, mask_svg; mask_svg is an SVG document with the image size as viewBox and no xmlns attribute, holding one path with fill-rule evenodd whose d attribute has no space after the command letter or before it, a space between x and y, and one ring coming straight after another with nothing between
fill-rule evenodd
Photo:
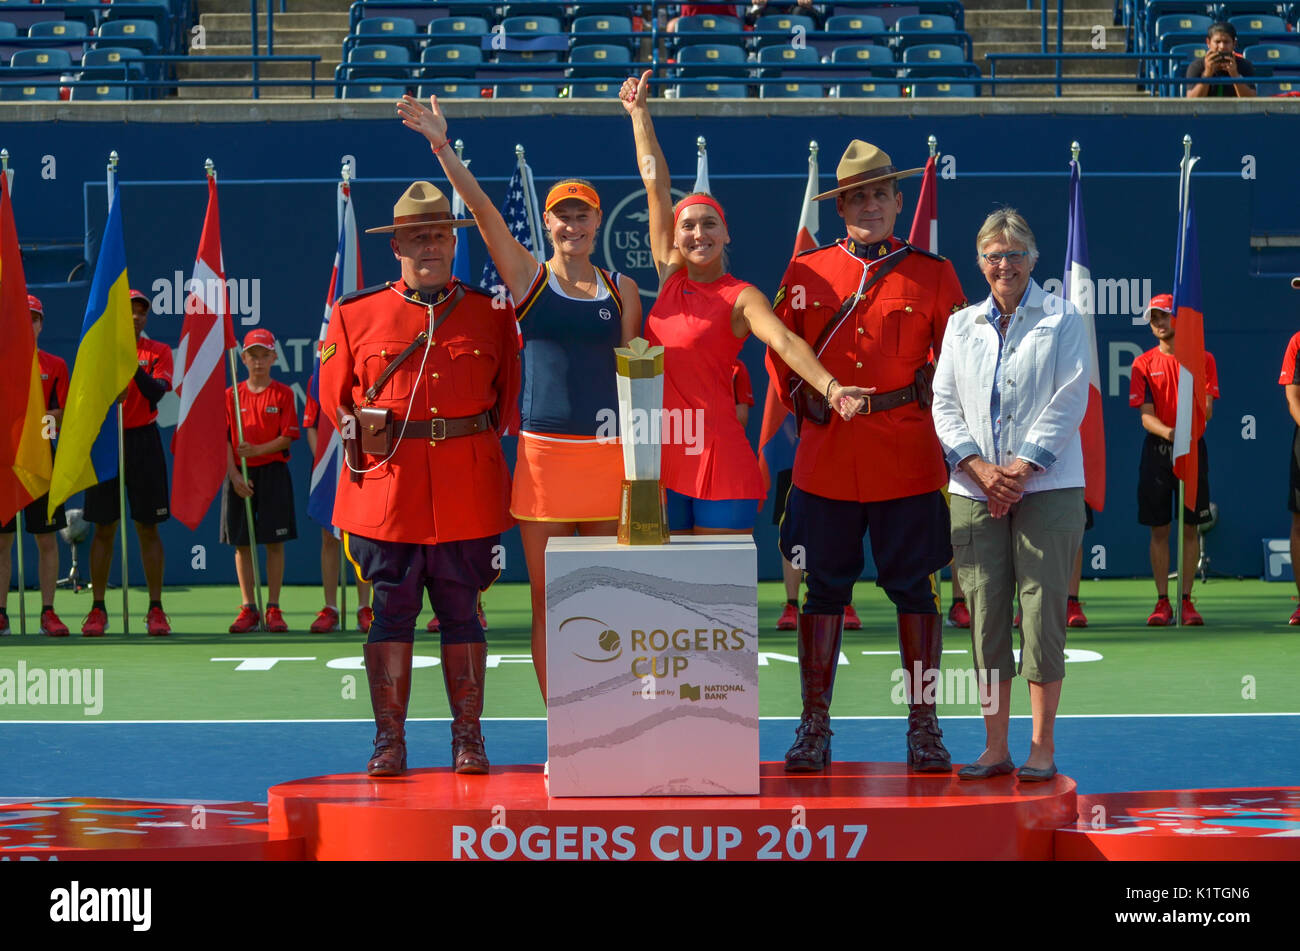
<instances>
[{"instance_id":1,"label":"low red side podium with confetti pattern at left edge","mask_svg":"<svg viewBox=\"0 0 1300 951\"><path fill-rule=\"evenodd\" d=\"M256 861L303 857L255 803L138 799L0 802L0 861Z\"/></svg>"}]
</instances>

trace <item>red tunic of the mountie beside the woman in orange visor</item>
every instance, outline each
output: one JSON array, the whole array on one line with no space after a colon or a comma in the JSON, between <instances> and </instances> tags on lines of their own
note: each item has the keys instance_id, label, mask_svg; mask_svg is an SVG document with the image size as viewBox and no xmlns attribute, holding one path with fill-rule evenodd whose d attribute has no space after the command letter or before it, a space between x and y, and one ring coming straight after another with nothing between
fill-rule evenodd
<instances>
[{"instance_id":1,"label":"red tunic of the mountie beside the woman in orange visor","mask_svg":"<svg viewBox=\"0 0 1300 951\"><path fill-rule=\"evenodd\" d=\"M351 412L365 405L367 387L428 330L428 308L399 296L396 291L411 294L402 282L394 287L370 287L334 304L321 349L320 404L328 418L337 420L339 407ZM436 304L436 313L442 316L446 307ZM412 353L373 405L391 409L395 422L406 418L408 405L412 421L459 418L494 408L499 420L507 420L517 400L515 309L493 307L491 295L465 286L465 296L438 327L433 346L426 353ZM382 456L363 455L363 468L377 468L356 483L344 466L334 525L376 540L416 544L504 531L514 520L499 431L500 425L497 431L441 442L403 439L386 463Z\"/></svg>"}]
</instances>

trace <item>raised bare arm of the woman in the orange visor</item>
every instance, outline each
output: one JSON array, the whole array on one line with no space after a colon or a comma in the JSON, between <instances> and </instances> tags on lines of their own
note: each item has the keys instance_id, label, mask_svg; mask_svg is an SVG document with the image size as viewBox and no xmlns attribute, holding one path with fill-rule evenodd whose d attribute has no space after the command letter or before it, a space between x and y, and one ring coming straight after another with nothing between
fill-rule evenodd
<instances>
[{"instance_id":1,"label":"raised bare arm of the woman in the orange visor","mask_svg":"<svg viewBox=\"0 0 1300 951\"><path fill-rule=\"evenodd\" d=\"M398 103L398 114L402 116L402 125L413 129L429 140L429 147L442 164L442 170L447 181L465 203L465 208L474 216L478 233L488 246L497 273L506 282L506 290L519 300L524 296L533 278L537 275L537 259L533 252L515 240L510 233L506 220L500 212L488 199L488 194L478 186L477 179L471 174L465 164L460 161L456 149L447 140L447 120L438 108L438 97L429 96L429 105L425 107L412 95L402 96Z\"/></svg>"}]
</instances>

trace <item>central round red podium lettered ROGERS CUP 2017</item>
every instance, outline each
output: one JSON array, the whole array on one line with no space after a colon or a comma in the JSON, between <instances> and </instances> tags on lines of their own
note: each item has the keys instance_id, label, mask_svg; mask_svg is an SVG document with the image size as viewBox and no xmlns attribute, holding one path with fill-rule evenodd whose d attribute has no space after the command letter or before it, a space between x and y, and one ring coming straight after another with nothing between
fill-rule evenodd
<instances>
[{"instance_id":1,"label":"central round red podium lettered ROGERS CUP 2017","mask_svg":"<svg viewBox=\"0 0 1300 951\"><path fill-rule=\"evenodd\" d=\"M551 799L541 767L494 767L299 780L268 805L272 837L302 838L307 859L1052 859L1075 798L1063 776L959 782L892 763L786 776L764 763L757 796Z\"/></svg>"}]
</instances>

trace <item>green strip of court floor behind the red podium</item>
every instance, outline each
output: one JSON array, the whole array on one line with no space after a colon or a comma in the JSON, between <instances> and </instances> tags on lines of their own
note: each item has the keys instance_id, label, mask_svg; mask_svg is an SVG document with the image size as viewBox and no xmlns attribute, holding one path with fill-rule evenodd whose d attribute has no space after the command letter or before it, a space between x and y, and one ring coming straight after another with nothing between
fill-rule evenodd
<instances>
[{"instance_id":1,"label":"green strip of court floor behind the red podium","mask_svg":"<svg viewBox=\"0 0 1300 951\"><path fill-rule=\"evenodd\" d=\"M945 583L945 595L948 586ZM759 586L759 668L763 716L800 711L793 633L776 631L783 603L779 583ZM1204 628L1147 628L1154 594L1150 581L1086 581L1089 626L1071 630L1062 715L1294 713L1300 712L1300 628L1287 618L1295 604L1286 585L1212 581L1197 585ZM36 596L29 595L29 611ZM281 599L289 634L228 634L238 594L234 587L170 589L164 599L174 634L144 635L146 598L131 595L133 630L122 637L121 594L109 591L109 634L77 635L90 594L61 591L57 607L73 637L35 634L0 638L0 721L14 720L334 720L369 718L364 638L355 630L309 634L320 608L316 587L286 589ZM486 716L545 715L529 656L525 585L497 585L485 598L490 630ZM857 592L862 631L845 635L836 682L837 716L897 716L901 687L893 608L870 582ZM355 608L355 605L350 605ZM9 595L17 629L17 595ZM434 665L438 638L416 637L412 717L447 716L442 677ZM354 620L355 624L355 620ZM944 668L968 669L970 634L945 629ZM421 660L425 659L425 660ZM21 666L20 666L21 665ZM5 682L20 672L81 668L103 670L101 709L86 704L16 703ZM6 672L9 672L6 674ZM39 678L38 678L39 679ZM94 678L92 678L94 681ZM961 686L954 678L949 685ZM30 681L29 681L30 691ZM1013 713L1028 713L1027 691L1017 686ZM83 698L84 699L84 698ZM948 699L961 699L949 696ZM941 704L946 716L975 716L972 695Z\"/></svg>"}]
</instances>

